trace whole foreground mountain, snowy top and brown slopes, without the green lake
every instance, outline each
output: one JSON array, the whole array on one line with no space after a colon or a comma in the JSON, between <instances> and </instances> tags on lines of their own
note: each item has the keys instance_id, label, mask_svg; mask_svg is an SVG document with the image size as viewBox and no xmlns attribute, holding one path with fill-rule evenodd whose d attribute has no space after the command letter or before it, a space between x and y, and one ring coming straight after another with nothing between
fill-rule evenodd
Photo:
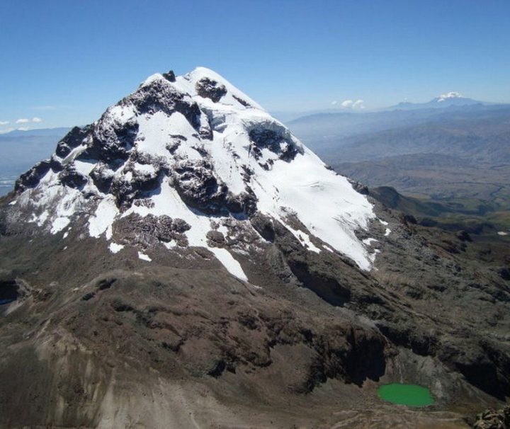
<instances>
[{"instance_id":1,"label":"whole foreground mountain, snowy top and brown slopes, without the green lake","mask_svg":"<svg viewBox=\"0 0 510 429\"><path fill-rule=\"evenodd\" d=\"M510 396L501 267L208 69L74 128L0 234L0 426L463 427L452 410ZM382 382L435 408L382 404Z\"/></svg>"}]
</instances>

